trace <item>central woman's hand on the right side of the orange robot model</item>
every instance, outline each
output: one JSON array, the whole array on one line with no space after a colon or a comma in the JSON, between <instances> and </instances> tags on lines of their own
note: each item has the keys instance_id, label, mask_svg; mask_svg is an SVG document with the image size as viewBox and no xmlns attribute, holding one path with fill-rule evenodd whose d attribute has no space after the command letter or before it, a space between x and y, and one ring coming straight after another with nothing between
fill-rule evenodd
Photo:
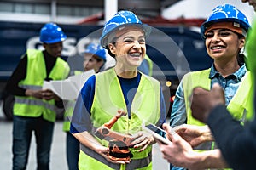
<instances>
[{"instance_id":1,"label":"central woman's hand on the right side of the orange robot model","mask_svg":"<svg viewBox=\"0 0 256 170\"><path fill-rule=\"evenodd\" d=\"M131 141L131 146L133 146L133 148L140 148L138 151L146 150L148 145L155 143L153 135L145 132L133 134L131 136Z\"/></svg>"}]
</instances>

